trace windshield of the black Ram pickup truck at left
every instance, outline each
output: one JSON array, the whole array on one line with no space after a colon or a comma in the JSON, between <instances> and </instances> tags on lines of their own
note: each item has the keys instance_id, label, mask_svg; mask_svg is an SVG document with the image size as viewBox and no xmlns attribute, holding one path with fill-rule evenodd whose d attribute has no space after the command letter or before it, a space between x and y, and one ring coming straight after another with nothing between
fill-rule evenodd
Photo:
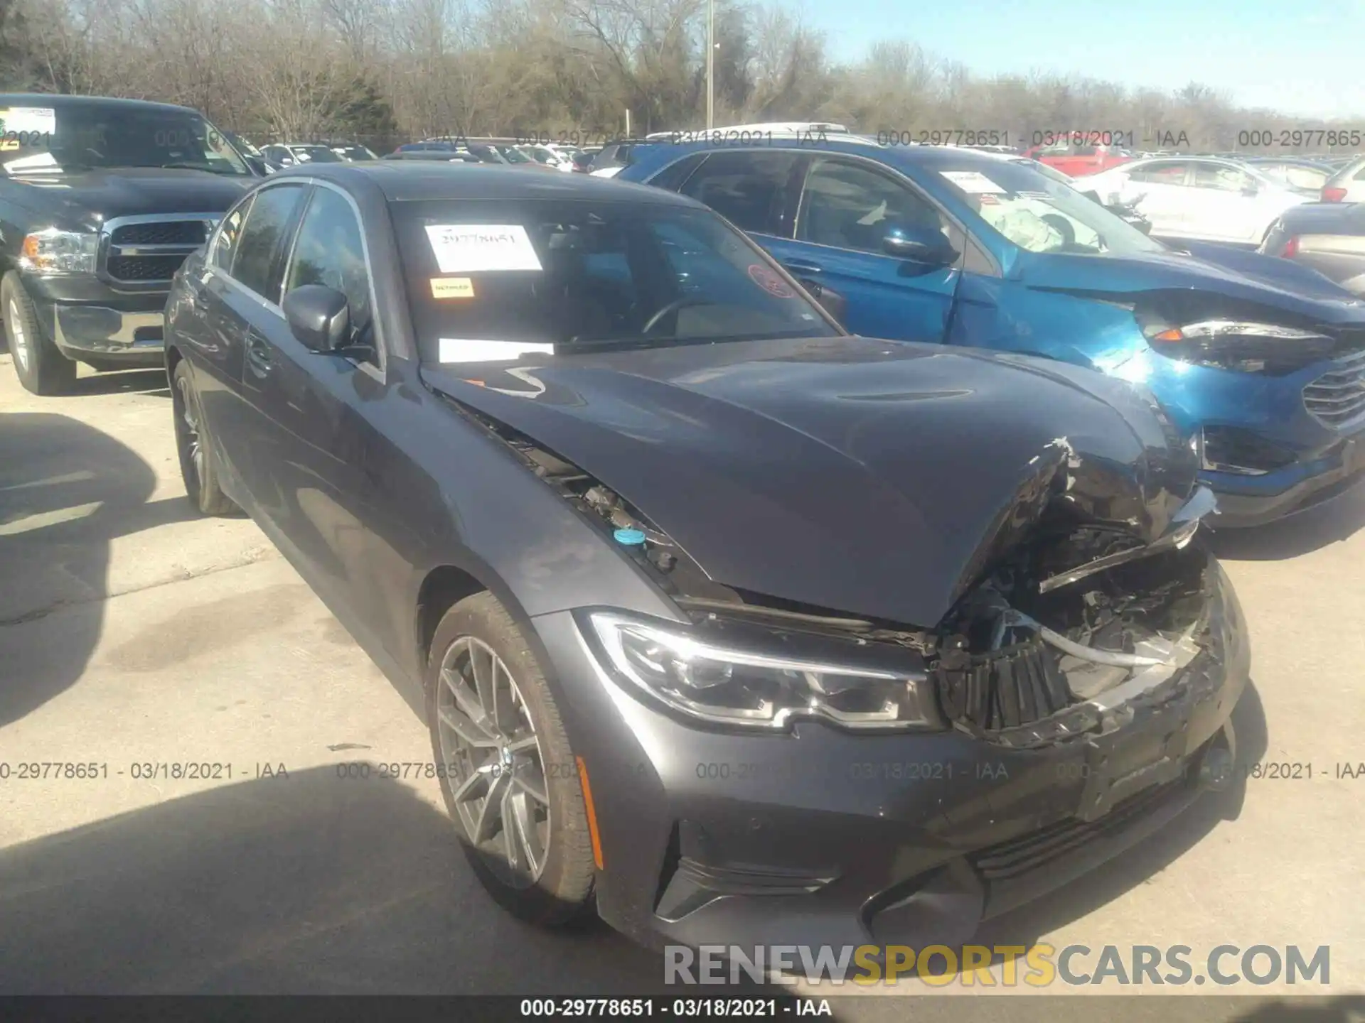
<instances>
[{"instance_id":1,"label":"windshield of the black Ram pickup truck at left","mask_svg":"<svg viewBox=\"0 0 1365 1023\"><path fill-rule=\"evenodd\" d=\"M165 166L251 176L228 139L192 110L81 102L0 109L8 175Z\"/></svg>"}]
</instances>

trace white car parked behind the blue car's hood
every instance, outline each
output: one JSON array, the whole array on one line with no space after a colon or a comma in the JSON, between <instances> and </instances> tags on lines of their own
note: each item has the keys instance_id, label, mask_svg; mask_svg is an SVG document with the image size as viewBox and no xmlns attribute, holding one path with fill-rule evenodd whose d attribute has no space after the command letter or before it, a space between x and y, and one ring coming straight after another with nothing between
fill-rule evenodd
<instances>
[{"instance_id":1,"label":"white car parked behind the blue car's hood","mask_svg":"<svg viewBox=\"0 0 1365 1023\"><path fill-rule=\"evenodd\" d=\"M1085 179L1100 202L1137 203L1152 235L1259 246L1284 210L1313 202L1253 166L1216 157L1134 160Z\"/></svg>"}]
</instances>

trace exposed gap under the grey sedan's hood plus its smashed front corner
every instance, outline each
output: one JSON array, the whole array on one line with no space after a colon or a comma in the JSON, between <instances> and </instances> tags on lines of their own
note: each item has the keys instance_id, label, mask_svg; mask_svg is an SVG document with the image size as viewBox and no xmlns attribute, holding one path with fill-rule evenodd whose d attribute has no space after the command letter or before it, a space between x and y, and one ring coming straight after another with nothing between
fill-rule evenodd
<instances>
[{"instance_id":1,"label":"exposed gap under the grey sedan's hood plus its smashed front corner","mask_svg":"<svg viewBox=\"0 0 1365 1023\"><path fill-rule=\"evenodd\" d=\"M612 537L699 637L760 644L767 637L777 649L824 642L833 660L898 649L936 704L924 712L986 743L1028 750L1095 739L1122 730L1143 708L1197 701L1193 689L1213 692L1226 678L1223 629L1215 622L1224 576L1194 543L1201 520L1215 512L1207 488L1149 520L1145 525L1160 522L1155 536L1114 514L1095 521L1100 502L1081 495L1107 492L1097 479L1114 494L1119 488L1099 476L1103 466L1085 465L1069 445L1054 442L983 543L975 585L935 627L923 627L726 585L591 473L497 420L464 412ZM1117 496L1104 507L1129 510Z\"/></svg>"}]
</instances>

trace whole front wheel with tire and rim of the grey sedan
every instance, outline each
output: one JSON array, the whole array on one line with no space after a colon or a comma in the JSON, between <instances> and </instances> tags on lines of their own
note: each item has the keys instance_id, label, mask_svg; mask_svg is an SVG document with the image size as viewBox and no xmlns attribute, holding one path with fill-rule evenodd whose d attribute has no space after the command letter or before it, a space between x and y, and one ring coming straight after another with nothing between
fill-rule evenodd
<instances>
[{"instance_id":1,"label":"whole front wheel with tire and rim of the grey sedan","mask_svg":"<svg viewBox=\"0 0 1365 1023\"><path fill-rule=\"evenodd\" d=\"M487 668L494 657L502 670L493 675L501 687L490 726L470 685L470 664ZM535 653L491 593L465 597L445 612L431 641L425 682L431 749L442 765L437 772L441 794L479 881L519 919L543 928L580 919L591 907L597 870L577 761ZM456 687L463 690L463 702L456 701ZM460 713L460 707L471 712ZM449 727L452 720L490 745L472 747ZM523 749L506 750L508 741L520 741ZM494 769L480 773L479 765ZM497 802L495 822L482 817L490 795ZM511 832L501 827L509 813L524 821ZM482 842L475 837L480 821L487 825ZM534 839L520 837L527 831ZM509 837L519 863L508 853Z\"/></svg>"}]
</instances>

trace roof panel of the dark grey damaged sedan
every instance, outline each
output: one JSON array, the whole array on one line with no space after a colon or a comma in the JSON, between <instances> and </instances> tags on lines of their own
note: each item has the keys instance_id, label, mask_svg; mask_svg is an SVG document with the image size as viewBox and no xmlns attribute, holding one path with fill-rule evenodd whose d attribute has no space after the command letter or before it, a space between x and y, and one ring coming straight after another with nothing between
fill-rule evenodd
<instances>
[{"instance_id":1,"label":"roof panel of the dark grey damaged sedan","mask_svg":"<svg viewBox=\"0 0 1365 1023\"><path fill-rule=\"evenodd\" d=\"M648 202L669 206L700 203L662 188L625 184L591 175L541 175L491 164L446 164L367 160L359 164L304 164L270 180L318 177L337 184L377 186L389 202L425 199L558 199L562 202Z\"/></svg>"}]
</instances>

